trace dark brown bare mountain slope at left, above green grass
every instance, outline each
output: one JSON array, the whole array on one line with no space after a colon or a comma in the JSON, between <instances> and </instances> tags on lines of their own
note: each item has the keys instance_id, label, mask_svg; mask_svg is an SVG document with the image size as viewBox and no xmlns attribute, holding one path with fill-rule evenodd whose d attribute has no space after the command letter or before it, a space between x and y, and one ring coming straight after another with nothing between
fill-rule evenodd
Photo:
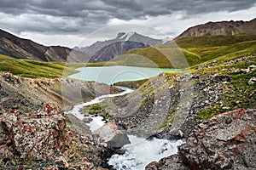
<instances>
[{"instance_id":1,"label":"dark brown bare mountain slope at left, above green grass","mask_svg":"<svg viewBox=\"0 0 256 170\"><path fill-rule=\"evenodd\" d=\"M0 30L0 54L15 59L34 59L38 61L86 62L89 58L71 48L61 46L46 47L37 42L23 39Z\"/></svg>"}]
</instances>

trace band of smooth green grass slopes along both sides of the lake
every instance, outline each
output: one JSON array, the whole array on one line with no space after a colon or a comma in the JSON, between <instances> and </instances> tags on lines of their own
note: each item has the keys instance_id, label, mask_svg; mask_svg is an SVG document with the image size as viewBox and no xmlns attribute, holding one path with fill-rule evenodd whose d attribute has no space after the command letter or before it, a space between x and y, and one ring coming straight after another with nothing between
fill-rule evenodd
<instances>
[{"instance_id":1,"label":"band of smooth green grass slopes along both sides of the lake","mask_svg":"<svg viewBox=\"0 0 256 170\"><path fill-rule=\"evenodd\" d=\"M132 65L193 68L201 64L256 54L256 35L188 37L155 47L131 49L109 62L59 63L13 59L0 54L0 71L22 77L67 77L83 66ZM64 73L64 74L63 74Z\"/></svg>"}]
</instances>

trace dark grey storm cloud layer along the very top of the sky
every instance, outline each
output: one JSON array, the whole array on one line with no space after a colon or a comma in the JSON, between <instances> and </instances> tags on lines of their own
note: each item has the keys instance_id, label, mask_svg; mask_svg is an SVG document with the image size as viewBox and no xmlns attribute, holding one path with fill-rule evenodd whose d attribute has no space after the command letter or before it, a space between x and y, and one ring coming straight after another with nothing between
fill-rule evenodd
<instances>
[{"instance_id":1,"label":"dark grey storm cloud layer along the very top of the sky","mask_svg":"<svg viewBox=\"0 0 256 170\"><path fill-rule=\"evenodd\" d=\"M228 10L234 11L252 7L254 0L0 0L1 12L8 14L49 14L53 16L88 17L94 11L104 11L109 17L131 20L137 17L172 14L184 10L188 14ZM127 17L129 15L130 17Z\"/></svg>"}]
</instances>

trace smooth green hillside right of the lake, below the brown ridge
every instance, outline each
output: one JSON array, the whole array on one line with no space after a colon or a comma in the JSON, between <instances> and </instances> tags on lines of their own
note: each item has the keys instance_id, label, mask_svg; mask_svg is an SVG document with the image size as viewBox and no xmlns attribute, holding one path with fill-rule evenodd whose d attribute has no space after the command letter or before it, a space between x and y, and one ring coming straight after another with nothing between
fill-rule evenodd
<instances>
[{"instance_id":1,"label":"smooth green hillside right of the lake, below the brown ridge","mask_svg":"<svg viewBox=\"0 0 256 170\"><path fill-rule=\"evenodd\" d=\"M186 68L217 58L251 54L256 54L256 35L187 37L156 47L132 49L113 59L113 62L119 65Z\"/></svg>"}]
</instances>

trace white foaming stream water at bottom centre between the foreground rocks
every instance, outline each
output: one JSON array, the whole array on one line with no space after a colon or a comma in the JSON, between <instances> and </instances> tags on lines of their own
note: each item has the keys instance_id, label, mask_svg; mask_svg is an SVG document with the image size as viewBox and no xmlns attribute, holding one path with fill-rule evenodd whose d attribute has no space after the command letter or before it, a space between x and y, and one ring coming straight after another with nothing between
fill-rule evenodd
<instances>
[{"instance_id":1,"label":"white foaming stream water at bottom centre between the foreground rocks","mask_svg":"<svg viewBox=\"0 0 256 170\"><path fill-rule=\"evenodd\" d=\"M131 144L122 148L125 154L115 154L108 161L116 170L143 170L152 161L160 161L163 157L176 154L177 146L183 144L183 140L146 140L136 136L129 136L129 139Z\"/></svg>"}]
</instances>

